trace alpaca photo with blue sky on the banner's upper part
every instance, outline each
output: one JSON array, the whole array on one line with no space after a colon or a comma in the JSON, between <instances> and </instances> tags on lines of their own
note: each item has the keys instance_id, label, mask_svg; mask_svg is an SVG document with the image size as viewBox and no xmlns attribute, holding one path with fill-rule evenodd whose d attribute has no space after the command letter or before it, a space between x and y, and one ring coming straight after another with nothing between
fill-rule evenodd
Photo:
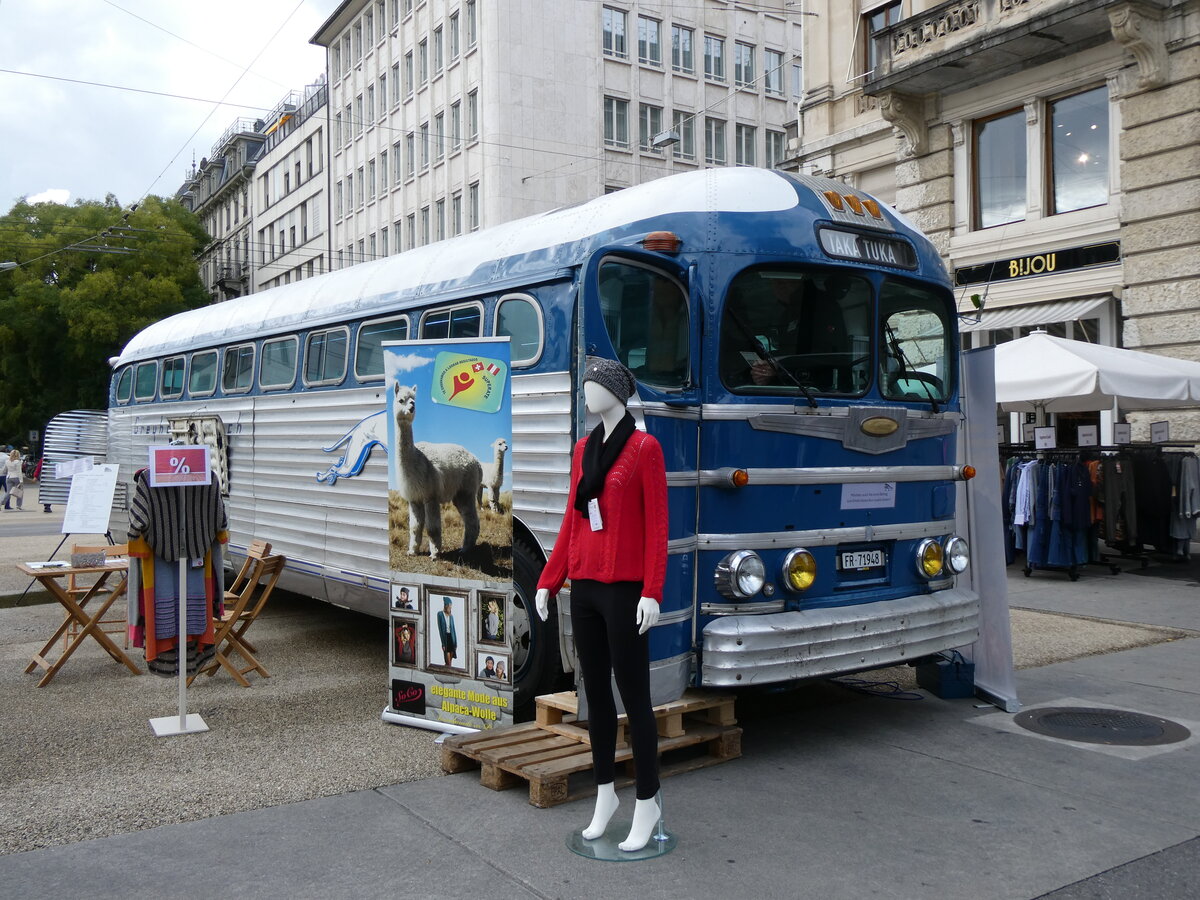
<instances>
[{"instance_id":1,"label":"alpaca photo with blue sky on the banner's upper part","mask_svg":"<svg viewBox=\"0 0 1200 900\"><path fill-rule=\"evenodd\" d=\"M502 490L511 433L506 367L467 354L434 355L421 343L388 348L385 356L390 565L425 575L511 578L512 493ZM446 356L450 364L437 365ZM449 389L439 390L439 377ZM484 397L488 408L467 388L481 396L491 390Z\"/></svg>"}]
</instances>

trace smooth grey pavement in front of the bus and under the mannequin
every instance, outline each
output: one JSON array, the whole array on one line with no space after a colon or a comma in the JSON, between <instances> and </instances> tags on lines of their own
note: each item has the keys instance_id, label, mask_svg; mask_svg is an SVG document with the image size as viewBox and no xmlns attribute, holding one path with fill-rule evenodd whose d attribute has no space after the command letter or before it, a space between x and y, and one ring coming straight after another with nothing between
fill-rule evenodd
<instances>
[{"instance_id":1,"label":"smooth grey pavement in front of the bus and under the mannequin","mask_svg":"<svg viewBox=\"0 0 1200 900\"><path fill-rule=\"evenodd\" d=\"M1018 672L1025 708L1158 715L1192 730L1183 743L1074 744L977 701L818 684L739 700L743 758L664 782L679 844L653 862L576 857L564 841L588 800L539 810L523 790L494 793L466 773L10 854L0 884L8 896L289 900L1196 896L1196 575L1192 563L1097 566L1075 583L1009 577L1013 606L1195 632ZM628 821L629 791L622 803Z\"/></svg>"}]
</instances>

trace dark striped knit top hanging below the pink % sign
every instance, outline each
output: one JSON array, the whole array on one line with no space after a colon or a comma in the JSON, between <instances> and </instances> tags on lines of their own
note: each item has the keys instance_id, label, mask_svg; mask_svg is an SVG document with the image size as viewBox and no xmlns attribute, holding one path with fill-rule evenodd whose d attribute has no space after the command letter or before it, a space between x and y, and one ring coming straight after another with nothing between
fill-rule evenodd
<instances>
[{"instance_id":1,"label":"dark striped knit top hanging below the pink % sign","mask_svg":"<svg viewBox=\"0 0 1200 900\"><path fill-rule=\"evenodd\" d=\"M182 520L182 522L180 521ZM167 562L203 559L217 532L228 527L221 486L150 487L145 469L133 475L130 538L146 539Z\"/></svg>"}]
</instances>

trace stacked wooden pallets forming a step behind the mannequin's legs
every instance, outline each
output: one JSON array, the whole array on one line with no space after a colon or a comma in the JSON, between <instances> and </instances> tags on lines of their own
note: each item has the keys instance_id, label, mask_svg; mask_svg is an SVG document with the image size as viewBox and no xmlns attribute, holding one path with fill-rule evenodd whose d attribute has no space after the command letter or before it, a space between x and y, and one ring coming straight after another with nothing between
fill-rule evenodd
<instances>
[{"instance_id":1,"label":"stacked wooden pallets forming a step behind the mannequin's legs","mask_svg":"<svg viewBox=\"0 0 1200 900\"><path fill-rule=\"evenodd\" d=\"M587 727L577 721L574 692L538 697L533 722L474 734L442 744L448 773L480 768L480 784L493 791L529 782L529 803L545 809L595 793L590 779L572 775L592 769ZM659 726L659 775L666 778L715 766L742 755L742 728L733 718L733 698L689 691L654 708ZM632 751L624 740L625 716L618 716L616 761L626 773L617 785L632 784ZM690 752L689 752L690 750ZM700 750L702 752L697 754Z\"/></svg>"}]
</instances>

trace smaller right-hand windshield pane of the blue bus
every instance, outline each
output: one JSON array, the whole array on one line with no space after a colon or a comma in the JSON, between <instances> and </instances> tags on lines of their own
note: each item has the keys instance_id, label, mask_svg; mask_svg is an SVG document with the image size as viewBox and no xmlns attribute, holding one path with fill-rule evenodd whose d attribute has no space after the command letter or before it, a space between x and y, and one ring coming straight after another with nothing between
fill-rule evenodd
<instances>
[{"instance_id":1,"label":"smaller right-hand windshield pane of the blue bus","mask_svg":"<svg viewBox=\"0 0 1200 900\"><path fill-rule=\"evenodd\" d=\"M880 292L880 392L888 400L949 398L953 354L947 301L928 288L889 278Z\"/></svg>"}]
</instances>

